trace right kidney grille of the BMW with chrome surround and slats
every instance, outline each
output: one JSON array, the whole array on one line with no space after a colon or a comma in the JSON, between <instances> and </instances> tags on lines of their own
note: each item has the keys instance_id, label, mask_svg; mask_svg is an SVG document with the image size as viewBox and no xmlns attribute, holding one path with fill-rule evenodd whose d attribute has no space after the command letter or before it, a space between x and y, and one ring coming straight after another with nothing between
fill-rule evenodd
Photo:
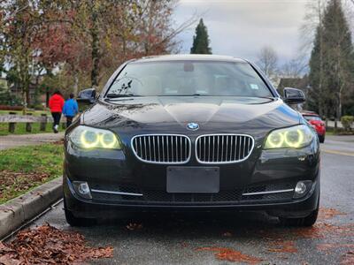
<instances>
[{"instance_id":1,"label":"right kidney grille of the BMW with chrome surround and slats","mask_svg":"<svg viewBox=\"0 0 354 265\"><path fill-rule=\"evenodd\" d=\"M235 158L233 161L222 161L222 162L203 162L199 159L198 157L198 152L197 152L197 142L200 138L204 137L204 146L205 146L205 137L211 137L214 138L215 136L244 136L244 137L249 137L249 139L251 140L252 144L251 144L251 147L250 147L250 153L249 155L243 157L243 159L240 159L240 155L241 155L241 152L237 155L237 159L236 159L236 152L235 152ZM235 148L236 147L240 147L241 144L242 144L243 140L241 140L240 137L237 137L237 142L235 143ZM244 144L244 143L243 143ZM199 135L198 137L196 137L196 142L195 142L195 153L196 153L196 161L198 163L204 163L204 164L212 164L212 163L241 163L242 161L245 161L247 158L250 157L250 154L252 154L252 151L253 151L253 148L254 148L254 144L255 144L255 140L254 138L249 135L249 134L240 134L240 133L212 133L212 134L202 134L202 135ZM250 143L248 143L248 146L250 146ZM220 154L220 159L223 160L224 158L224 155L223 155L223 152L224 152L224 137L221 138L221 154ZM243 152L244 152L244 148L243 148ZM230 155L231 156L231 155ZM205 157L205 148L204 148L204 157ZM227 154L226 154L226 157L227 158ZM217 160L219 160L219 137L218 137L218 152L217 152Z\"/></svg>"}]
</instances>

